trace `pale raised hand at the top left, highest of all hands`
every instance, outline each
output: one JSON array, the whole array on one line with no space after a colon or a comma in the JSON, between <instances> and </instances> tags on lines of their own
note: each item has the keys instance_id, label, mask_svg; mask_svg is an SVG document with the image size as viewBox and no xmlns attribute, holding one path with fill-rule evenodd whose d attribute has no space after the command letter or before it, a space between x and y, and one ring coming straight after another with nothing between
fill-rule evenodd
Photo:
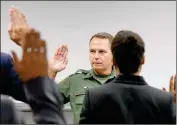
<instances>
[{"instance_id":1,"label":"pale raised hand at the top left, highest of all hands","mask_svg":"<svg viewBox=\"0 0 177 125\"><path fill-rule=\"evenodd\" d=\"M10 39L13 40L17 45L22 45L21 37L22 33L28 32L30 27L28 25L25 15L17 8L9 9L10 22L8 26L8 33Z\"/></svg>"}]
</instances>

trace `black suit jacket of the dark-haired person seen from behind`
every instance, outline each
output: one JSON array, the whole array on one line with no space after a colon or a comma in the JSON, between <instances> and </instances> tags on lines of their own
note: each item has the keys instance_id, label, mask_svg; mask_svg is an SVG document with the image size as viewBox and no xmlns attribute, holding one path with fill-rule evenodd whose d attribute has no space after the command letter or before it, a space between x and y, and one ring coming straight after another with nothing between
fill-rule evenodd
<instances>
[{"instance_id":1,"label":"black suit jacket of the dark-haired person seen from behind","mask_svg":"<svg viewBox=\"0 0 177 125\"><path fill-rule=\"evenodd\" d=\"M141 76L120 75L87 91L80 117L80 124L170 124L176 110L170 93Z\"/></svg>"}]
</instances>

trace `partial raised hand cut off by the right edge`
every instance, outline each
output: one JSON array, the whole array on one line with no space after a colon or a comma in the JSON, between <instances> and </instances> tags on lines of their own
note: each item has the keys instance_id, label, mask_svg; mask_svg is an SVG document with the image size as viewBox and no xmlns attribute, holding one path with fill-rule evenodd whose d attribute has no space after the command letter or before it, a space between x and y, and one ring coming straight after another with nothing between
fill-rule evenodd
<instances>
[{"instance_id":1,"label":"partial raised hand cut off by the right edge","mask_svg":"<svg viewBox=\"0 0 177 125\"><path fill-rule=\"evenodd\" d=\"M163 90L166 91L165 88L163 88ZM174 102L176 103L176 74L170 77L169 92L172 93Z\"/></svg>"}]
</instances>

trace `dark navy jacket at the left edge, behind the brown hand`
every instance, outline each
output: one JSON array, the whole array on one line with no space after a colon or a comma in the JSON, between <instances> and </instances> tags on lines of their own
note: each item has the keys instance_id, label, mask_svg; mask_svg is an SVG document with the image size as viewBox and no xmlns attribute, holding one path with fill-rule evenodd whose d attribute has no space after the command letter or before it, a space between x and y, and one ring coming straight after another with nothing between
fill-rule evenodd
<instances>
[{"instance_id":1,"label":"dark navy jacket at the left edge, behind the brown hand","mask_svg":"<svg viewBox=\"0 0 177 125\"><path fill-rule=\"evenodd\" d=\"M0 94L9 95L16 100L26 102L23 84L12 65L11 56L3 52L0 56Z\"/></svg>"}]
</instances>

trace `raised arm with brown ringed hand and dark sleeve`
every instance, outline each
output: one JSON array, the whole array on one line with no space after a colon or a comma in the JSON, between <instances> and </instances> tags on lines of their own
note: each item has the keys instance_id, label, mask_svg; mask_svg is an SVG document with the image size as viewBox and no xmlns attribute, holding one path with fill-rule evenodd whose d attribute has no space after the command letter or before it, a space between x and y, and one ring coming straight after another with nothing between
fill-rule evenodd
<instances>
[{"instance_id":1,"label":"raised arm with brown ringed hand and dark sleeve","mask_svg":"<svg viewBox=\"0 0 177 125\"><path fill-rule=\"evenodd\" d=\"M22 59L19 60L16 53L12 52L13 65L23 81L25 96L34 120L38 124L66 124L61 95L54 81L48 78L45 41L33 29L22 36Z\"/></svg>"}]
</instances>

